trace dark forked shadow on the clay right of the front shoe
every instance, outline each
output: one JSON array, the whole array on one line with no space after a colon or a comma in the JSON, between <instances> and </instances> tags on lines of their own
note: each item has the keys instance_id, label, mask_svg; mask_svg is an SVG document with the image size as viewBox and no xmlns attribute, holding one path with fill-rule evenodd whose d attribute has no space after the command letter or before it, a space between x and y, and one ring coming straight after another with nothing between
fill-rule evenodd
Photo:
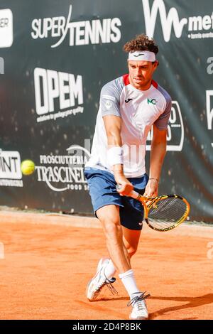
<instances>
[{"instance_id":1,"label":"dark forked shadow on the clay right of the front shoe","mask_svg":"<svg viewBox=\"0 0 213 334\"><path fill-rule=\"evenodd\" d=\"M158 316L162 316L165 313L183 310L185 308L198 307L202 305L207 305L213 303L213 293L209 293L200 297L154 297L151 296L149 299L158 299L160 301L185 301L187 304L172 306L168 308L162 308L159 311L149 314L149 319L152 320ZM188 319L187 319L188 320Z\"/></svg>"}]
</instances>

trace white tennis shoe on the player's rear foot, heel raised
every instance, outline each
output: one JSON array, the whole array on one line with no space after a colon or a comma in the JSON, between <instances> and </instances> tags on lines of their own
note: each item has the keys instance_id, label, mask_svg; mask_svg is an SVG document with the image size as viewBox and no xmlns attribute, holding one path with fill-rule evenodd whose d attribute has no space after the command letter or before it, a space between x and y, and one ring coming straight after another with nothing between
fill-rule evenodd
<instances>
[{"instance_id":1,"label":"white tennis shoe on the player's rear foot, heel raised","mask_svg":"<svg viewBox=\"0 0 213 334\"><path fill-rule=\"evenodd\" d=\"M116 289L114 289L114 286L111 284L116 281L114 277L111 279L107 279L107 277L104 274L104 270L109 263L110 259L102 258L99 261L99 264L97 266L97 272L94 275L94 277L89 281L87 284L87 291L86 295L89 301L94 301L97 296L99 296L99 293L102 291L103 287L106 285L111 293L117 294Z\"/></svg>"}]
</instances>

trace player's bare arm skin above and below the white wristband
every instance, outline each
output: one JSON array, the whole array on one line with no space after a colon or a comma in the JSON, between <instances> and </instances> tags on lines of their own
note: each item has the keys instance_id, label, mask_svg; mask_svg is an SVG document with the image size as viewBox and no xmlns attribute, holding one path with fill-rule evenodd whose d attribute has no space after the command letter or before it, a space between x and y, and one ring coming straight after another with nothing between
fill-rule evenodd
<instances>
[{"instance_id":1,"label":"player's bare arm skin above and below the white wristband","mask_svg":"<svg viewBox=\"0 0 213 334\"><path fill-rule=\"evenodd\" d=\"M122 146L121 141L121 118L114 115L107 115L103 117L104 126L107 132L108 148ZM133 190L133 185L124 176L124 165L119 163L112 166L114 178L116 183L121 185L119 193L121 195L128 195Z\"/></svg>"}]
</instances>

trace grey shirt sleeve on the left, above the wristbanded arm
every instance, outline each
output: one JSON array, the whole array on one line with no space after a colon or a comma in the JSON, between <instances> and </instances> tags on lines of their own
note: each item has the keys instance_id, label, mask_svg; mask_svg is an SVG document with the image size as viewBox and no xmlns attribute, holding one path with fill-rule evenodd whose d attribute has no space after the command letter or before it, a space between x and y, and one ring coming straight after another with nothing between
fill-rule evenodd
<instances>
[{"instance_id":1,"label":"grey shirt sleeve on the left, above the wristbanded arm","mask_svg":"<svg viewBox=\"0 0 213 334\"><path fill-rule=\"evenodd\" d=\"M106 115L114 115L121 117L120 112L120 95L121 89L116 80L108 82L101 90L100 107L102 117Z\"/></svg>"}]
</instances>

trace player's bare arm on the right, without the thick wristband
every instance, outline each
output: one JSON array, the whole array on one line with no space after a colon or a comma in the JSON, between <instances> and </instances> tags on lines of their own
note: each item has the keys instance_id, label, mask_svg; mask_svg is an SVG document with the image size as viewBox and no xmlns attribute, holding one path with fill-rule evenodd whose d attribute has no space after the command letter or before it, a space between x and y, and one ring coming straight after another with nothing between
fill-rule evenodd
<instances>
[{"instance_id":1,"label":"player's bare arm on the right, without the thick wristband","mask_svg":"<svg viewBox=\"0 0 213 334\"><path fill-rule=\"evenodd\" d=\"M158 195L160 171L166 153L166 134L167 130L160 130L157 126L155 126L155 124L153 124L149 181L146 185L144 193L147 197L155 197Z\"/></svg>"}]
</instances>

